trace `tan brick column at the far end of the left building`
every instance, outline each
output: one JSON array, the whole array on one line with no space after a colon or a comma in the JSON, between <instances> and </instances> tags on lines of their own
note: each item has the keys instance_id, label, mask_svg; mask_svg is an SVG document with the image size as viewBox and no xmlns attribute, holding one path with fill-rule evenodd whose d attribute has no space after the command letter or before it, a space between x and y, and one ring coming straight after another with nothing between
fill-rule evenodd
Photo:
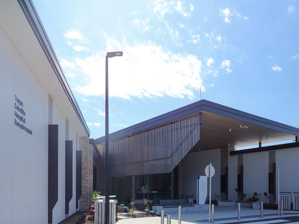
<instances>
[{"instance_id":1,"label":"tan brick column at the far end of the left building","mask_svg":"<svg viewBox=\"0 0 299 224\"><path fill-rule=\"evenodd\" d=\"M81 211L88 211L89 206L89 195L92 193L92 159L93 154L90 155L89 149L89 138L88 137L79 137L79 150L82 151L82 195L79 200L79 208ZM90 164L91 162L91 164ZM91 166L91 174L90 174ZM91 175L91 183L90 183ZM90 189L91 184L91 189Z\"/></svg>"}]
</instances>

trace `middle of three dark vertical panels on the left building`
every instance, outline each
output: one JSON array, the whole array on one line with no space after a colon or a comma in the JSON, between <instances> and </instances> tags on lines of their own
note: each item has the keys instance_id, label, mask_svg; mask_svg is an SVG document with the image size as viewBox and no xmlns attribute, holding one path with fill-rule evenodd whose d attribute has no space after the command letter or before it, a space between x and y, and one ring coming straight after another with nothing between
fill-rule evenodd
<instances>
[{"instance_id":1,"label":"middle of three dark vertical panels on the left building","mask_svg":"<svg viewBox=\"0 0 299 224\"><path fill-rule=\"evenodd\" d=\"M65 214L73 197L73 141L65 141Z\"/></svg>"}]
</instances>

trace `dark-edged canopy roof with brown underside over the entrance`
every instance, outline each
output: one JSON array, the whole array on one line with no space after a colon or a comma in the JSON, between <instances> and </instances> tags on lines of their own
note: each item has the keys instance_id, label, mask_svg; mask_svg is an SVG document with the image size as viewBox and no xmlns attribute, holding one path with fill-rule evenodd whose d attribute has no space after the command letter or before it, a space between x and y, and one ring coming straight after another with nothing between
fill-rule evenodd
<instances>
[{"instance_id":1,"label":"dark-edged canopy roof with brown underside over the entrance","mask_svg":"<svg viewBox=\"0 0 299 224\"><path fill-rule=\"evenodd\" d=\"M209 150L228 146L255 145L294 139L299 128L275 122L260 116L226 107L208 100L200 100L174 111L109 134L109 141L116 141L140 134L173 122L202 114L199 142L191 149ZM247 128L240 128L246 125ZM105 144L105 136L95 139L97 145Z\"/></svg>"}]
</instances>

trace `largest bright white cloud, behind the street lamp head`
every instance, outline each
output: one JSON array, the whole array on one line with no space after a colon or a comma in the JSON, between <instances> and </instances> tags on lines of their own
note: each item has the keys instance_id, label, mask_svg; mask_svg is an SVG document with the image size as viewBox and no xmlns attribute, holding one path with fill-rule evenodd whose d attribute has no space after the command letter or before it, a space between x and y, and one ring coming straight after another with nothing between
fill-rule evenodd
<instances>
[{"instance_id":1,"label":"largest bright white cloud, behind the street lamp head","mask_svg":"<svg viewBox=\"0 0 299 224\"><path fill-rule=\"evenodd\" d=\"M131 99L137 96L194 97L194 91L202 87L201 61L192 54L173 53L152 42L130 45L107 38L106 52L122 49L122 57L109 61L109 94L112 97ZM75 89L84 95L104 96L105 58L102 52L88 57L77 57L75 63L78 73L88 80ZM155 65L155 66L153 66ZM99 111L101 116L105 113Z\"/></svg>"}]
</instances>

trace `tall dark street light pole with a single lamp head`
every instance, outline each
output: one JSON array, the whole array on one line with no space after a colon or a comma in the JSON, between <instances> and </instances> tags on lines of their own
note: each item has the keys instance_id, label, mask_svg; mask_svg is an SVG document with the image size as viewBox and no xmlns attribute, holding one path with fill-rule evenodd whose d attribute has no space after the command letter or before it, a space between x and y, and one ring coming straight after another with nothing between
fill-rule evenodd
<instances>
[{"instance_id":1,"label":"tall dark street light pole with a single lamp head","mask_svg":"<svg viewBox=\"0 0 299 224\"><path fill-rule=\"evenodd\" d=\"M105 77L105 224L109 224L109 194L110 194L110 173L109 173L109 105L108 105L108 58L123 56L123 52L108 52L106 55L106 77Z\"/></svg>"}]
</instances>

